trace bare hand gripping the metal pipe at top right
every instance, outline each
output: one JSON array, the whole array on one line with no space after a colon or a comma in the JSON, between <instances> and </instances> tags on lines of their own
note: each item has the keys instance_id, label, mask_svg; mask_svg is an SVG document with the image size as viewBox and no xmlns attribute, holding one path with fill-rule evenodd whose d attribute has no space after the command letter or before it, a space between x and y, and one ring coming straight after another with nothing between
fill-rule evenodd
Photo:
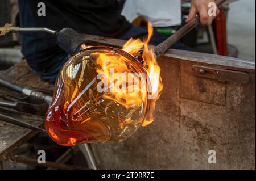
<instances>
[{"instance_id":1,"label":"bare hand gripping the metal pipe at top right","mask_svg":"<svg viewBox=\"0 0 256 181\"><path fill-rule=\"evenodd\" d=\"M208 7L208 5L211 2L215 3L214 0L192 0L190 12L185 22L186 23L190 22L193 18L196 17L196 14L199 14L201 24L203 25L212 24L213 19L216 18L220 10L218 10L218 7L216 6L216 16L209 15L208 10L210 9L210 7Z\"/></svg>"}]
</instances>

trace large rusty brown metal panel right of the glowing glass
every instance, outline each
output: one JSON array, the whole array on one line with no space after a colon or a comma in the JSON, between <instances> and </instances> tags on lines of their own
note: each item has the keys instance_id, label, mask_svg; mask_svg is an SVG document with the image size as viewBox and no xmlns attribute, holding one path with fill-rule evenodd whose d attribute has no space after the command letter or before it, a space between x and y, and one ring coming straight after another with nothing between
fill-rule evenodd
<instances>
[{"instance_id":1,"label":"large rusty brown metal panel right of the glowing glass","mask_svg":"<svg viewBox=\"0 0 256 181\"><path fill-rule=\"evenodd\" d=\"M181 77L188 77L187 92L197 85L191 70L195 62L164 56L158 62L164 88L156 103L155 121L118 144L92 144L97 167L255 169L255 74L250 74L247 84L203 78L207 90L218 87L213 93L216 98L209 98L225 102L220 106L180 98ZM208 163L209 150L216 151L216 164Z\"/></svg>"}]
</instances>

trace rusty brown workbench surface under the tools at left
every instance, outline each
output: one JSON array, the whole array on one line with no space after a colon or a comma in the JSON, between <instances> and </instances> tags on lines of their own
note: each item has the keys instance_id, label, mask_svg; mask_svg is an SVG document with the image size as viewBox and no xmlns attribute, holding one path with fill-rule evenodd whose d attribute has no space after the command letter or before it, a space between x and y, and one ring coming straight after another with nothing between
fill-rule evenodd
<instances>
[{"instance_id":1,"label":"rusty brown workbench surface under the tools at left","mask_svg":"<svg viewBox=\"0 0 256 181\"><path fill-rule=\"evenodd\" d=\"M20 85L39 87L48 89L52 87L51 83L44 82L40 79L27 65L26 61L15 64L7 70L0 71L0 77L7 81L18 83ZM0 92L8 92L9 89L0 87ZM18 113L12 115L18 119L22 119L27 123L35 126L43 124L44 118L35 115L27 115L26 113ZM11 153L24 142L33 137L37 132L26 128L18 127L13 124L0 121L0 159L7 153Z\"/></svg>"}]
</instances>

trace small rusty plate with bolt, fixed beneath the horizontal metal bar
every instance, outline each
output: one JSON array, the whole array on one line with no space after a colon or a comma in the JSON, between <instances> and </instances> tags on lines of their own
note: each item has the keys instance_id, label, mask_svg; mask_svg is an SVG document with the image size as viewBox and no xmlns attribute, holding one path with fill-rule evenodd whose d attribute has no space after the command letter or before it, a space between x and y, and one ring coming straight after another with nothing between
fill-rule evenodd
<instances>
[{"instance_id":1,"label":"small rusty plate with bolt, fixed beneath the horizontal metal bar","mask_svg":"<svg viewBox=\"0 0 256 181\"><path fill-rule=\"evenodd\" d=\"M215 79L196 77L195 65L184 63L180 66L180 98L225 106L226 83Z\"/></svg>"}]
</instances>

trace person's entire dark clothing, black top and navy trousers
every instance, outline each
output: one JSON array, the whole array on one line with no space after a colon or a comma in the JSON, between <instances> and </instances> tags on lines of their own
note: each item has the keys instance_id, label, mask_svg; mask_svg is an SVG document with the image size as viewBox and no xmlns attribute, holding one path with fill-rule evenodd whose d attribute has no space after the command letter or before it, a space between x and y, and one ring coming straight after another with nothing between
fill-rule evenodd
<instances>
[{"instance_id":1,"label":"person's entire dark clothing, black top and navy trousers","mask_svg":"<svg viewBox=\"0 0 256 181\"><path fill-rule=\"evenodd\" d=\"M38 3L46 5L46 16L38 16ZM47 27L53 30L73 28L79 33L117 37L128 40L130 37L147 35L145 28L131 26L120 15L117 0L19 0L20 27ZM151 43L158 45L167 38L155 32ZM68 54L60 49L56 37L43 32L23 32L22 53L28 65L46 81L55 82L61 66ZM172 48L185 49L176 43Z\"/></svg>"}]
</instances>

